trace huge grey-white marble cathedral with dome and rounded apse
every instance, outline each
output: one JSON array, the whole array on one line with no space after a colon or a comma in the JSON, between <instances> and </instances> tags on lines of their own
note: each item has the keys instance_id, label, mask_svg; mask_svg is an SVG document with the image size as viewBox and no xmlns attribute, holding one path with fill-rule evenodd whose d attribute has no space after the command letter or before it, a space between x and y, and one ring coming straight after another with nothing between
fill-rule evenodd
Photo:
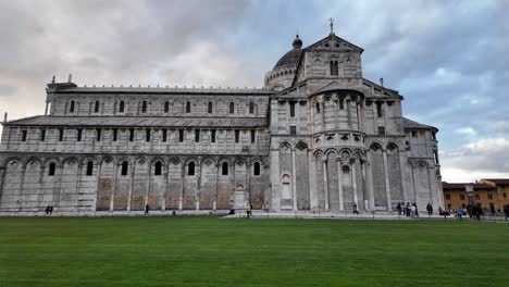
<instances>
[{"instance_id":1,"label":"huge grey-white marble cathedral with dome and rounded apse","mask_svg":"<svg viewBox=\"0 0 509 287\"><path fill-rule=\"evenodd\" d=\"M0 212L444 207L437 129L362 77L362 52L297 36L260 89L53 78L44 115L2 123Z\"/></svg>"}]
</instances>

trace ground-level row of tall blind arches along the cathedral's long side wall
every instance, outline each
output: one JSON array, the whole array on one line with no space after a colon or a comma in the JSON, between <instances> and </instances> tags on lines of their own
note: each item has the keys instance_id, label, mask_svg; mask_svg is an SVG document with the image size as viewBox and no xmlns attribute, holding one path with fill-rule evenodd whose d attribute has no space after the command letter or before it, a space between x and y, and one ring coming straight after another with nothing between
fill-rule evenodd
<instances>
[{"instance_id":1,"label":"ground-level row of tall blind arches along the cathedral's long side wall","mask_svg":"<svg viewBox=\"0 0 509 287\"><path fill-rule=\"evenodd\" d=\"M238 186L261 208L264 162L257 157L10 158L0 170L0 209L228 209Z\"/></svg>"}]
</instances>

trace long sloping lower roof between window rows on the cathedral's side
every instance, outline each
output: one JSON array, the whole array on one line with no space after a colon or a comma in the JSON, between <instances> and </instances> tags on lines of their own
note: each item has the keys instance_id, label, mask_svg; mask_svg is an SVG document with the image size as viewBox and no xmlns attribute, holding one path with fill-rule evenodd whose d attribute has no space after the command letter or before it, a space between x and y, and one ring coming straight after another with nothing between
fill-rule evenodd
<instances>
[{"instance_id":1,"label":"long sloping lower roof between window rows on the cathedral's side","mask_svg":"<svg viewBox=\"0 0 509 287\"><path fill-rule=\"evenodd\" d=\"M22 126L167 126L167 127L265 127L265 117L189 116L49 116L38 115L7 125Z\"/></svg>"}]
</instances>

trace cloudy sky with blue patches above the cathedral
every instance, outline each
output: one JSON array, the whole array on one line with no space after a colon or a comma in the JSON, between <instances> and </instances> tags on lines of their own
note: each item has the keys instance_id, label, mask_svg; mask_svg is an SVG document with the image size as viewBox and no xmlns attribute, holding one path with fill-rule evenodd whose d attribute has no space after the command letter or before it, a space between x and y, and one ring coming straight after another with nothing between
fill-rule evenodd
<instances>
[{"instance_id":1,"label":"cloudy sky with blue patches above the cathedral","mask_svg":"<svg viewBox=\"0 0 509 287\"><path fill-rule=\"evenodd\" d=\"M262 87L298 33L364 49L363 76L436 126L443 180L509 177L509 1L0 0L0 113L78 86ZM3 120L3 118L2 118Z\"/></svg>"}]
</instances>

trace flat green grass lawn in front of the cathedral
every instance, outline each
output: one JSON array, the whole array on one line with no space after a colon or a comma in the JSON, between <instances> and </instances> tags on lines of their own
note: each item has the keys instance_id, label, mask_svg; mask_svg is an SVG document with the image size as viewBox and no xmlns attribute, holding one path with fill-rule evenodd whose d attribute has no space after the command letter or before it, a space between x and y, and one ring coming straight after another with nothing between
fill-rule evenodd
<instances>
[{"instance_id":1,"label":"flat green grass lawn in front of the cathedral","mask_svg":"<svg viewBox=\"0 0 509 287\"><path fill-rule=\"evenodd\" d=\"M509 224L0 219L0 286L509 286Z\"/></svg>"}]
</instances>

